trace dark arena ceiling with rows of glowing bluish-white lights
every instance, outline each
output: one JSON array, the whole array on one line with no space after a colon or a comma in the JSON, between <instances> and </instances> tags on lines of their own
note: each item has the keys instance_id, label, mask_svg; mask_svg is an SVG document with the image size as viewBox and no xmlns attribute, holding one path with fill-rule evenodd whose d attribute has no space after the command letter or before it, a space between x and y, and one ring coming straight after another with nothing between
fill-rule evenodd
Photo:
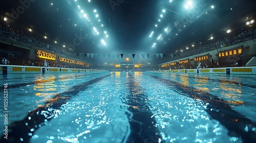
<instances>
[{"instance_id":1,"label":"dark arena ceiling with rows of glowing bluish-white lights","mask_svg":"<svg viewBox=\"0 0 256 143\"><path fill-rule=\"evenodd\" d=\"M250 0L2 0L1 18L79 53L174 53L253 27ZM8 21L9 20L9 21ZM248 25L248 22L249 25ZM229 30L229 33L227 31ZM213 38L213 39L211 39Z\"/></svg>"}]
</instances>

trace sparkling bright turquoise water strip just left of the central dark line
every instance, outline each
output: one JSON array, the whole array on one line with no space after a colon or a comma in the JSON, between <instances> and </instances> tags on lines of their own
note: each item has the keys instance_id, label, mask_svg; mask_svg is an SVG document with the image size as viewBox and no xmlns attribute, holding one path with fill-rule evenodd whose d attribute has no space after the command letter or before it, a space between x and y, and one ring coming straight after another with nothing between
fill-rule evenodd
<instances>
[{"instance_id":1,"label":"sparkling bright turquoise water strip just left of the central dark line","mask_svg":"<svg viewBox=\"0 0 256 143\"><path fill-rule=\"evenodd\" d=\"M115 80L115 84L112 80ZM68 142L122 142L129 133L126 114L130 111L119 99L125 90L124 77L110 77L96 83L88 90L61 107L62 112L52 125L45 127L54 136L51 141ZM68 119L67 119L68 115ZM64 126L63 126L64 125ZM47 141L48 133L38 130L40 135L32 142Z\"/></svg>"}]
</instances>

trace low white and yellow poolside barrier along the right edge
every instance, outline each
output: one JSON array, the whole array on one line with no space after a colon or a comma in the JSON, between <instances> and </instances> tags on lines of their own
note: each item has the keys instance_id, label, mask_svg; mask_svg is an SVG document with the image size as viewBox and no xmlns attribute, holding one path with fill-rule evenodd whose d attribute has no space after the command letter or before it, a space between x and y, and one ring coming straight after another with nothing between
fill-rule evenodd
<instances>
[{"instance_id":1,"label":"low white and yellow poolside barrier along the right edge","mask_svg":"<svg viewBox=\"0 0 256 143\"><path fill-rule=\"evenodd\" d=\"M151 72L153 72L153 73L256 75L256 67L226 67L226 68L152 70Z\"/></svg>"}]
</instances>

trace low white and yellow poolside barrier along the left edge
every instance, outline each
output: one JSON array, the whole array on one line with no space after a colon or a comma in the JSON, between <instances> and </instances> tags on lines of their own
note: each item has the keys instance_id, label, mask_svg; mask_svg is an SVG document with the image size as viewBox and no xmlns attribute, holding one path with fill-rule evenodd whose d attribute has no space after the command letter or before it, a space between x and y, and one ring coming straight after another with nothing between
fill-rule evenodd
<instances>
[{"instance_id":1,"label":"low white and yellow poolside barrier along the left edge","mask_svg":"<svg viewBox=\"0 0 256 143\"><path fill-rule=\"evenodd\" d=\"M0 75L7 74L47 74L47 73L99 73L107 70L99 69L75 69L58 67L38 67L19 65L0 65Z\"/></svg>"}]
</instances>

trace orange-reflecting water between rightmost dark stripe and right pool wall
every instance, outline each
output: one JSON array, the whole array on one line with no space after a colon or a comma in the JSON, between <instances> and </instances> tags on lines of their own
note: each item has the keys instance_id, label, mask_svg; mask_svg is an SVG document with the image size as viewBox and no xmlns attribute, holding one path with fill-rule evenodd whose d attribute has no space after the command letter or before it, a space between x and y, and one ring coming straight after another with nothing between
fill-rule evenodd
<instances>
[{"instance_id":1,"label":"orange-reflecting water between rightmost dark stripe and right pool wall","mask_svg":"<svg viewBox=\"0 0 256 143\"><path fill-rule=\"evenodd\" d=\"M226 76L218 74L186 75L189 77L189 86L224 99L234 110L241 112L243 115L250 118L250 120L256 118L256 104L254 103L256 100L256 96L254 96L256 84L254 83L253 76ZM162 74L162 77L185 85L184 81L182 81L182 79L184 79L183 74ZM252 87L250 87L250 85Z\"/></svg>"}]
</instances>

